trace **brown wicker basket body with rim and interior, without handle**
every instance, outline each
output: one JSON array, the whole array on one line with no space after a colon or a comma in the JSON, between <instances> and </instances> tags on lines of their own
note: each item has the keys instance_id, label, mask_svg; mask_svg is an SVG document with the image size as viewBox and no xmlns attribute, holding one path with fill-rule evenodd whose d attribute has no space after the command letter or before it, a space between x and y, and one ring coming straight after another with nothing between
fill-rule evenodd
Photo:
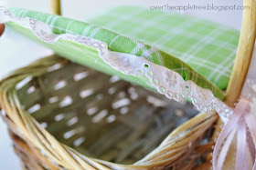
<instances>
[{"instance_id":1,"label":"brown wicker basket body with rim and interior, without handle","mask_svg":"<svg viewBox=\"0 0 256 170\"><path fill-rule=\"evenodd\" d=\"M0 97L26 169L191 169L218 117L56 55L2 80Z\"/></svg>"}]
</instances>

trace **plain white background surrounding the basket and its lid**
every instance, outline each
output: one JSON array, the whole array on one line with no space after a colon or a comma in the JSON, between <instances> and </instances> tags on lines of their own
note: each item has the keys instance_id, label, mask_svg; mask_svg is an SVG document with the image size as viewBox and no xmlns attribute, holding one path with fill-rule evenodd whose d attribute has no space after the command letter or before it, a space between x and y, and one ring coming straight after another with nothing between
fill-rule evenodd
<instances>
[{"instance_id":1,"label":"plain white background surrounding the basket and its lid","mask_svg":"<svg viewBox=\"0 0 256 170\"><path fill-rule=\"evenodd\" d=\"M242 4L242 0L189 0L190 5L206 5L206 2L214 3L214 5ZM62 0L62 11L64 16L85 21L93 15L99 15L107 9L118 5L142 5L149 8L150 5L187 5L187 3L188 0ZM0 5L21 7L49 13L49 3L47 0L0 0ZM240 29L241 11L187 11L186 13ZM0 37L0 78L7 75L10 71L28 65L37 58L49 55L50 53L52 53L50 50L31 42L22 35L16 35L16 33L6 30L5 34ZM19 160L13 152L12 142L7 135L5 123L1 118L0 169L20 169Z\"/></svg>"}]
</instances>

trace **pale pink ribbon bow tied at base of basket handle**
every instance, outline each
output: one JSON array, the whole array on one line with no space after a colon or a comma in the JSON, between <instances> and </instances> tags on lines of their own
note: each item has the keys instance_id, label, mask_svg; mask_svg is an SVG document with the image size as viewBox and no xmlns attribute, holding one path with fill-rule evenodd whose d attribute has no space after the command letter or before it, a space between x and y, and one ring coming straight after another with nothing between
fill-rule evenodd
<instances>
[{"instance_id":1,"label":"pale pink ribbon bow tied at base of basket handle","mask_svg":"<svg viewBox=\"0 0 256 170\"><path fill-rule=\"evenodd\" d=\"M213 170L221 170L224 165L229 146L237 134L236 170L249 170L250 158L247 151L250 150L250 157L253 161L252 170L256 170L256 120L251 113L249 101L241 98L224 126L213 151Z\"/></svg>"}]
</instances>

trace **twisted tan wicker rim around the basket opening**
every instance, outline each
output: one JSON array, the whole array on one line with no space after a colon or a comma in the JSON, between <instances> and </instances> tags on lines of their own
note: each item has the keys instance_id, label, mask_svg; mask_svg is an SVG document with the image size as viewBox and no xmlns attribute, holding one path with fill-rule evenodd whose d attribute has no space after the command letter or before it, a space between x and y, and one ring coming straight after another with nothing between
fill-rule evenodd
<instances>
[{"instance_id":1,"label":"twisted tan wicker rim around the basket opening","mask_svg":"<svg viewBox=\"0 0 256 170\"><path fill-rule=\"evenodd\" d=\"M48 56L31 65L16 70L0 81L0 106L5 110L6 115L13 122L13 125L15 125L13 128L18 129L21 135L25 136L28 141L36 145L37 148L43 151L43 153L45 153L45 155L47 155L55 164L77 169L90 169L95 167L100 169L113 167L121 169L144 169L155 166L165 166L166 164L177 161L178 156L175 158L165 158L160 162L156 161L157 157L155 157L155 161L153 162L151 162L151 159L154 158L154 155L166 153L166 150L169 152L171 151L169 154L167 152L167 155L174 155L175 151L173 149L178 149L178 152L180 153L182 150L183 153L185 153L187 150L185 146L190 145L191 147L191 141L195 140L199 135L202 135L217 119L217 115L214 113L208 115L199 114L195 116L184 125L177 127L176 130L168 135L161 145L152 151L151 154L147 155L149 158L145 156L141 161L138 161L134 165L118 165L81 155L69 146L59 143L59 141L50 135L48 131L32 117L32 115L28 115L27 111L21 108L16 94L16 83L27 76L44 75L45 73L48 73L49 66L59 63L65 65L67 60L59 58L56 55ZM195 133L195 131L199 131L200 133ZM183 149L179 147L182 147Z\"/></svg>"}]
</instances>

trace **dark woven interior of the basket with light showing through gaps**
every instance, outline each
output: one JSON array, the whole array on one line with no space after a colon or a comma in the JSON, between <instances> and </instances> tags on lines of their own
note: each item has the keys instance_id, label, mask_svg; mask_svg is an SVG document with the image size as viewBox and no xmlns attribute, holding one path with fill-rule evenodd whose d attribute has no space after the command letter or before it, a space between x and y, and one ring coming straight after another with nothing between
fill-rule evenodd
<instances>
[{"instance_id":1,"label":"dark woven interior of the basket with light showing through gaps","mask_svg":"<svg viewBox=\"0 0 256 170\"><path fill-rule=\"evenodd\" d=\"M59 142L125 165L142 159L198 114L187 102L71 62L27 77L16 89L21 105Z\"/></svg>"}]
</instances>

